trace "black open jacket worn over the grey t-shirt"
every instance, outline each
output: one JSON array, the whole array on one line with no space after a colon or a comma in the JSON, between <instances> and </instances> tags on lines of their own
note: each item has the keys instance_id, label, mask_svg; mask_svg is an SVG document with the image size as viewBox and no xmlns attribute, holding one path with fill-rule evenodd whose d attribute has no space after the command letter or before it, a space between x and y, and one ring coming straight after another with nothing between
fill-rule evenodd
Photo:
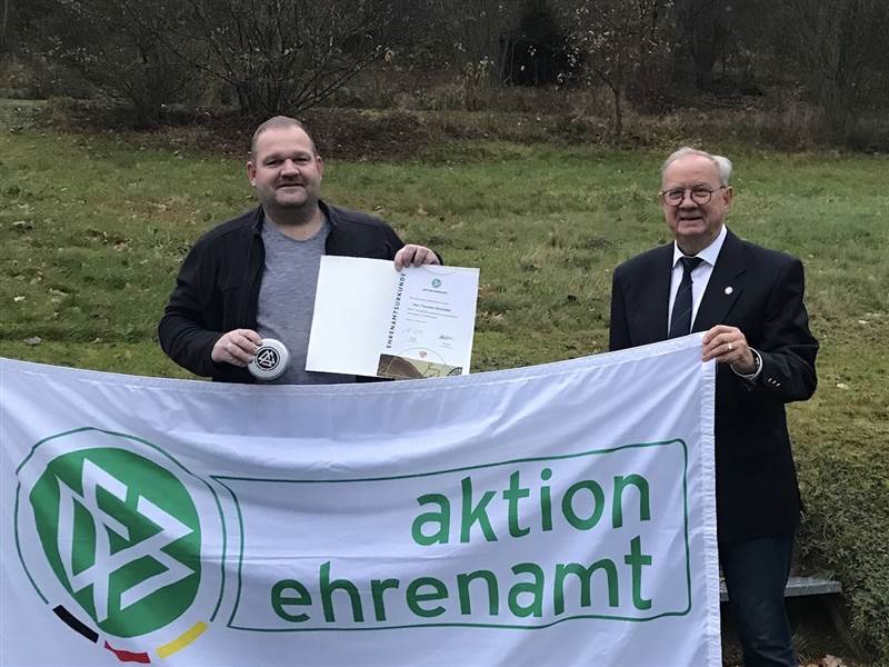
<instances>
[{"instance_id":1,"label":"black open jacket worn over the grey t-shirt","mask_svg":"<svg viewBox=\"0 0 889 667\"><path fill-rule=\"evenodd\" d=\"M319 202L330 221L324 252L394 258L404 243L382 220ZM160 346L191 372L226 382L253 382L246 368L214 364L213 345L232 329L257 328L266 248L262 208L211 229L182 262L158 327Z\"/></svg>"}]
</instances>

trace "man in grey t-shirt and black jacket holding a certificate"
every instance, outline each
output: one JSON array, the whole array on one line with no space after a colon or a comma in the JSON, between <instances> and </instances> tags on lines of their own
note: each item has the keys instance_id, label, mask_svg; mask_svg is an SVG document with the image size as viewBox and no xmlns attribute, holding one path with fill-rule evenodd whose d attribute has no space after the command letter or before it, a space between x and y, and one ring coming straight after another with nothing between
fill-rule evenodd
<instances>
[{"instance_id":1,"label":"man in grey t-shirt and black jacket holding a certificate","mask_svg":"<svg viewBox=\"0 0 889 667\"><path fill-rule=\"evenodd\" d=\"M282 340L291 361L280 384L354 381L304 370L323 255L439 263L401 242L382 220L320 199L324 165L297 120L277 116L253 133L247 176L260 206L200 238L182 262L158 327L163 351L196 375L251 382L247 365L263 338Z\"/></svg>"}]
</instances>

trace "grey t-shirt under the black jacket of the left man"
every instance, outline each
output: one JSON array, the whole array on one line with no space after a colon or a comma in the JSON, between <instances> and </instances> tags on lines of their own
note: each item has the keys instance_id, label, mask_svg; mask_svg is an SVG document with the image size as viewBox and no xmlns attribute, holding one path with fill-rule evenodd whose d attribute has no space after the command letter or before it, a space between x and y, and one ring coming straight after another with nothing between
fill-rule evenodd
<instances>
[{"instance_id":1,"label":"grey t-shirt under the black jacket of the left man","mask_svg":"<svg viewBox=\"0 0 889 667\"><path fill-rule=\"evenodd\" d=\"M290 352L287 370L268 384L334 385L356 380L354 376L306 370L318 268L329 233L327 220L317 235L304 241L290 238L268 220L262 226L266 268L259 289L257 332L262 338L277 338Z\"/></svg>"}]
</instances>

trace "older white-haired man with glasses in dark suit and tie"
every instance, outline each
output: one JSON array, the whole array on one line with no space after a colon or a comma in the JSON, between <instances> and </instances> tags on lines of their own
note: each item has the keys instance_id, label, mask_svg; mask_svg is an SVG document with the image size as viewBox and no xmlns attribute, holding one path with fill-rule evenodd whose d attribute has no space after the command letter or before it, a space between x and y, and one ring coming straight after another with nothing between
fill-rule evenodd
<instances>
[{"instance_id":1,"label":"older white-haired man with glasses in dark suit and tie","mask_svg":"<svg viewBox=\"0 0 889 667\"><path fill-rule=\"evenodd\" d=\"M818 341L802 265L725 226L731 162L682 148L663 163L675 241L615 270L612 350L706 331L717 361L719 558L748 667L796 666L783 606L800 499L785 404L815 391Z\"/></svg>"}]
</instances>

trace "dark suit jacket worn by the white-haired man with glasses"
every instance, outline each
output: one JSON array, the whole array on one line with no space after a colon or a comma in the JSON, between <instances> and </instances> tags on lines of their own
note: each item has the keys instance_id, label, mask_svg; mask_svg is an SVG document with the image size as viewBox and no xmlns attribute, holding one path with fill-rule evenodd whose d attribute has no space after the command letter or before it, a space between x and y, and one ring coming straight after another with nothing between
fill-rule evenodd
<instances>
[{"instance_id":1,"label":"dark suit jacket worn by the white-haired man with glasses","mask_svg":"<svg viewBox=\"0 0 889 667\"><path fill-rule=\"evenodd\" d=\"M612 350L667 338L672 259L669 243L615 270ZM792 532L799 521L785 404L806 400L817 385L818 341L809 331L803 283L798 259L729 231L691 327L738 327L762 356L752 384L728 365L717 368L716 496L723 542Z\"/></svg>"}]
</instances>

